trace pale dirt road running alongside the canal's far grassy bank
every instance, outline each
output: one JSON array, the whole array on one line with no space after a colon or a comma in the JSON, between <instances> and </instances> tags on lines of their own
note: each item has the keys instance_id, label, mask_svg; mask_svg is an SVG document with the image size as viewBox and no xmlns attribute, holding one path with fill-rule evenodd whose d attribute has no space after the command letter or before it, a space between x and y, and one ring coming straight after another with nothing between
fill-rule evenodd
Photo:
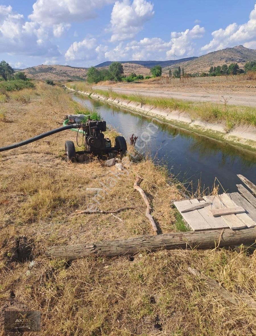
<instances>
[{"instance_id":1,"label":"pale dirt road running alongside the canal's far grassy bank","mask_svg":"<svg viewBox=\"0 0 256 336\"><path fill-rule=\"evenodd\" d=\"M95 89L108 90L109 86L93 86ZM123 94L142 94L152 97L164 97L164 98L176 98L190 101L211 101L216 103L223 103L222 93L212 94L206 92L177 92L171 90L159 90L152 88L120 88L112 86L112 90L117 93ZM237 95L237 94L225 94L224 98L228 99L228 104L232 105L244 105L244 106L256 106L256 95ZM222 101L221 101L222 100Z\"/></svg>"}]
</instances>

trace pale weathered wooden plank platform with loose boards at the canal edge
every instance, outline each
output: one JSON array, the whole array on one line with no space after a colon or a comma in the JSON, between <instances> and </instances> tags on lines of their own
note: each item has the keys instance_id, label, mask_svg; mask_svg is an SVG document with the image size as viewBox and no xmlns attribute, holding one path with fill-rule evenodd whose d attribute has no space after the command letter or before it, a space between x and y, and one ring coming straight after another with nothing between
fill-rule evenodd
<instances>
[{"instance_id":1,"label":"pale weathered wooden plank platform with loose boards at the canal edge","mask_svg":"<svg viewBox=\"0 0 256 336\"><path fill-rule=\"evenodd\" d=\"M231 228L233 230L256 226L256 186L243 175L238 177L252 191L243 185L238 185L239 193L204 196L203 200L190 199L174 202L185 221L194 231ZM205 206L203 206L205 205ZM225 215L216 215L216 210ZM213 211L212 211L213 210ZM239 213L240 212L240 213Z\"/></svg>"}]
</instances>

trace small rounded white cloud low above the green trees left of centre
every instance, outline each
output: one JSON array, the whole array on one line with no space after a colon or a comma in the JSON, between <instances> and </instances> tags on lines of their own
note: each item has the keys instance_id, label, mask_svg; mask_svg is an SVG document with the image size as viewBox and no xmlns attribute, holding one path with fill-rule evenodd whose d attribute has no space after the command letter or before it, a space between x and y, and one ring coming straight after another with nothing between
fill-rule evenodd
<instances>
[{"instance_id":1,"label":"small rounded white cloud low above the green trees left of centre","mask_svg":"<svg viewBox=\"0 0 256 336\"><path fill-rule=\"evenodd\" d=\"M98 56L97 43L95 38L85 38L81 42L74 42L65 53L67 61L91 60Z\"/></svg>"}]
</instances>

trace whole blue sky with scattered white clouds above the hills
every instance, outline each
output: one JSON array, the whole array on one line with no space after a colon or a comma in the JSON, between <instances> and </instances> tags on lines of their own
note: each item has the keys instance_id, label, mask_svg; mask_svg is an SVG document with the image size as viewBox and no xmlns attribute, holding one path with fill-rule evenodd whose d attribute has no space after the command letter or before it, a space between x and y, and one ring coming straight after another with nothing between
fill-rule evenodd
<instances>
[{"instance_id":1,"label":"whole blue sky with scattered white clouds above the hills","mask_svg":"<svg viewBox=\"0 0 256 336\"><path fill-rule=\"evenodd\" d=\"M0 0L0 59L15 68L166 60L256 49L255 0Z\"/></svg>"}]
</instances>

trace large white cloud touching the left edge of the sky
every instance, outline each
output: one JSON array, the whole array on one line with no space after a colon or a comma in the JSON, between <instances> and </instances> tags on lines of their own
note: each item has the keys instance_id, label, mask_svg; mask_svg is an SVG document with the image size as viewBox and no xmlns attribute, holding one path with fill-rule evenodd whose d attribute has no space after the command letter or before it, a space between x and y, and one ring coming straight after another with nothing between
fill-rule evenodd
<instances>
[{"instance_id":1,"label":"large white cloud touching the left edge of the sky","mask_svg":"<svg viewBox=\"0 0 256 336\"><path fill-rule=\"evenodd\" d=\"M48 32L34 22L25 22L23 15L11 6L0 6L0 52L28 55L58 55Z\"/></svg>"}]
</instances>

